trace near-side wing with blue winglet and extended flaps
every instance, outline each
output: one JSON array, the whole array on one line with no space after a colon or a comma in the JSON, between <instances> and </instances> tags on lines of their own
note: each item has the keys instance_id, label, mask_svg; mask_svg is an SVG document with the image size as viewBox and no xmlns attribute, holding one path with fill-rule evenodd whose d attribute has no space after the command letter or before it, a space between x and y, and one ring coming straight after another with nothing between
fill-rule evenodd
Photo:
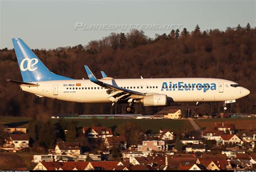
<instances>
[{"instance_id":1,"label":"near-side wing with blue winglet and extended flaps","mask_svg":"<svg viewBox=\"0 0 256 172\"><path fill-rule=\"evenodd\" d=\"M137 92L137 91L133 91L133 90L128 90L122 87L118 87L116 85L111 85L111 84L107 84L105 82L99 81L95 75L91 72L90 68L88 66L84 66L86 73L88 75L88 78L90 79L91 82L102 86L104 88L107 88L109 90L107 90L107 94L109 94L109 97L113 97L114 99L112 100L113 104L118 102L118 101L122 101L122 100L127 100L129 98L140 98L143 97L145 94L141 93L141 92ZM113 105L112 104L112 105Z\"/></svg>"}]
</instances>

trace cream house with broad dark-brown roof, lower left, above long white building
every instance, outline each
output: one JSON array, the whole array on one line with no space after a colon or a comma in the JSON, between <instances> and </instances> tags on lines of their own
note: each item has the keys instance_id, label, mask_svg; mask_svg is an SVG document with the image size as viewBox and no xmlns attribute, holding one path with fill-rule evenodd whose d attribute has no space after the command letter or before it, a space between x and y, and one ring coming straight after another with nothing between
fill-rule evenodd
<instances>
[{"instance_id":1,"label":"cream house with broad dark-brown roof, lower left, above long white building","mask_svg":"<svg viewBox=\"0 0 256 172\"><path fill-rule=\"evenodd\" d=\"M78 142L57 142L55 154L80 155L81 147Z\"/></svg>"}]
</instances>

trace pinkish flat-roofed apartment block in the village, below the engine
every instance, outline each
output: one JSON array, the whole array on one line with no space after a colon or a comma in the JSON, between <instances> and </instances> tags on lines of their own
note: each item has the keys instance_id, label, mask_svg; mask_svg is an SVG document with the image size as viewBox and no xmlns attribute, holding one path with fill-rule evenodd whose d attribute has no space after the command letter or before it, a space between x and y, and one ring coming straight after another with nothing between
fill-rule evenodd
<instances>
[{"instance_id":1,"label":"pinkish flat-roofed apartment block in the village, below the engine","mask_svg":"<svg viewBox=\"0 0 256 172\"><path fill-rule=\"evenodd\" d=\"M165 150L165 141L157 141L157 140L146 140L142 141L142 145L138 145L138 151L163 151Z\"/></svg>"}]
</instances>

